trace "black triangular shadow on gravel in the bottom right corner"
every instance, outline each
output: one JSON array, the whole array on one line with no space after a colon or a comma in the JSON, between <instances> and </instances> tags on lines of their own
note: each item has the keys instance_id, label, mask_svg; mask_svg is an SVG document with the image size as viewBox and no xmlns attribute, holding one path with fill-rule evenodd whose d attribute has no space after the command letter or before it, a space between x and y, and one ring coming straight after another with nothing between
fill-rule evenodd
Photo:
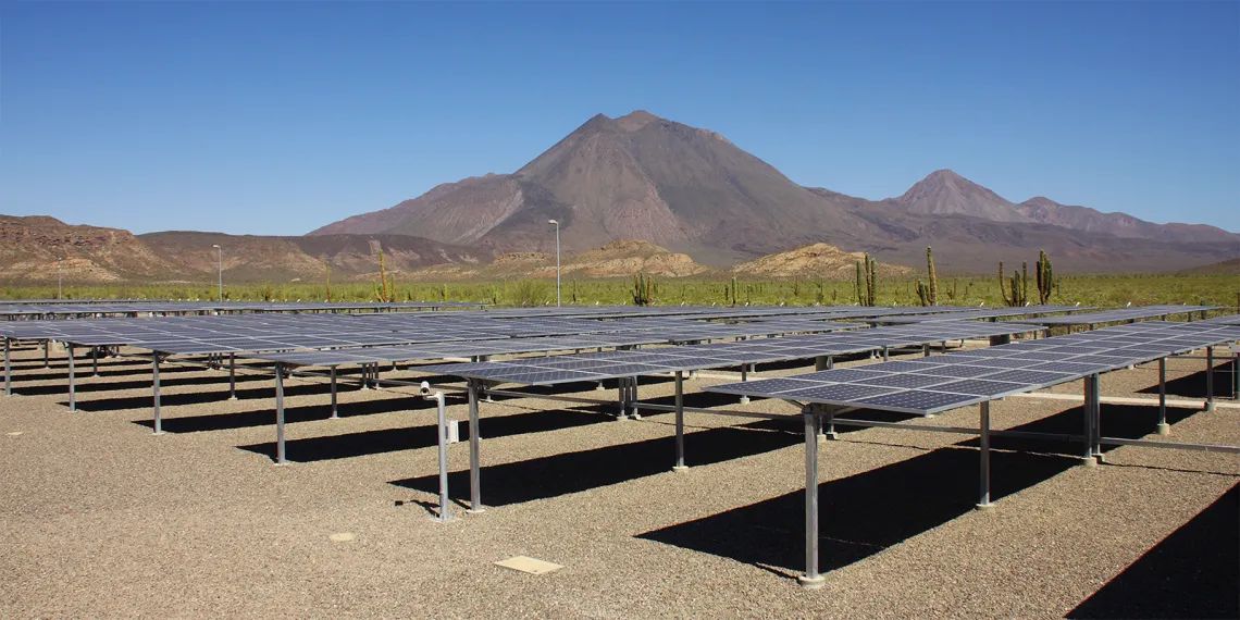
<instances>
[{"instance_id":1,"label":"black triangular shadow on gravel in the bottom right corner","mask_svg":"<svg viewBox=\"0 0 1240 620\"><path fill-rule=\"evenodd\" d=\"M1240 618L1240 485L1066 618Z\"/></svg>"}]
</instances>

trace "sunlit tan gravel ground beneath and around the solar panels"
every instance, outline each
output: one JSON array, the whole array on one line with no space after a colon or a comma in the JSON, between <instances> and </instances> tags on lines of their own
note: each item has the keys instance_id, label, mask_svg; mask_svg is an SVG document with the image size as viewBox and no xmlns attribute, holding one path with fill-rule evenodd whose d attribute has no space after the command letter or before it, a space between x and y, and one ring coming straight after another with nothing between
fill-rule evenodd
<instances>
[{"instance_id":1,"label":"sunlit tan gravel ground beneath and around the solar panels","mask_svg":"<svg viewBox=\"0 0 1240 620\"><path fill-rule=\"evenodd\" d=\"M153 436L148 362L104 361L100 377L79 381L71 413L62 357L47 370L36 350L16 360L16 396L0 398L0 618L1240 614L1236 455L1118 448L1083 467L1071 444L996 439L996 507L977 512L975 439L839 428L820 444L827 583L810 591L795 582L796 417L688 414L691 469L675 474L671 414L615 422L608 408L484 403L487 510L454 505L456 521L443 525L432 518L434 409L412 391L343 389L342 418L330 420L321 381L286 382L294 463L274 466L269 377L243 372L229 402L224 373L165 368L167 433ZM1203 368L1169 362L1169 392L1200 399ZM688 404L734 403L696 393L722 374L687 382ZM1156 398L1156 382L1153 365L1121 371L1102 394ZM1223 404L1234 402L1228 384L1220 373ZM642 399L671 393L670 379L641 387ZM461 401L449 403L465 419ZM771 401L728 407L795 413ZM1156 415L1104 404L1104 433L1145 436ZM1240 408L1169 417L1172 435L1149 439L1240 445ZM976 425L977 409L919 423ZM992 427L1074 433L1080 412L1009 398L992 407ZM453 496L465 501L467 444L449 453ZM346 532L353 539L329 539ZM494 565L518 554L564 568Z\"/></svg>"}]
</instances>

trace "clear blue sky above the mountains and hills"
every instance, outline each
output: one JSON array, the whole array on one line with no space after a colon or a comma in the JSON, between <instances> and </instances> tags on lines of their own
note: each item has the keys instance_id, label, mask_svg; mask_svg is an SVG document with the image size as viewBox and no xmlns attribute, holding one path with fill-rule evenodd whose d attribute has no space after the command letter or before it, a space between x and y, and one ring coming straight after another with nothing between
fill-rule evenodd
<instances>
[{"instance_id":1,"label":"clear blue sky above the mountains and hills","mask_svg":"<svg viewBox=\"0 0 1240 620\"><path fill-rule=\"evenodd\" d=\"M1240 231L1240 2L0 2L0 212L300 234L591 115Z\"/></svg>"}]
</instances>

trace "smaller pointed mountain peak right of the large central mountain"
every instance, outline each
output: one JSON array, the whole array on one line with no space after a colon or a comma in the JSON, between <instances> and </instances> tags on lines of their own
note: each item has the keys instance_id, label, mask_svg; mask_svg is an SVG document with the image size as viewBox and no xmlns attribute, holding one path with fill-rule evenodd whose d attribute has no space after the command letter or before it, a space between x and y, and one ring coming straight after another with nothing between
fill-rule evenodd
<instances>
[{"instance_id":1,"label":"smaller pointed mountain peak right of the large central mountain","mask_svg":"<svg viewBox=\"0 0 1240 620\"><path fill-rule=\"evenodd\" d=\"M931 172L894 201L909 213L972 216L992 222L1030 221L1016 205L951 170Z\"/></svg>"}]
</instances>

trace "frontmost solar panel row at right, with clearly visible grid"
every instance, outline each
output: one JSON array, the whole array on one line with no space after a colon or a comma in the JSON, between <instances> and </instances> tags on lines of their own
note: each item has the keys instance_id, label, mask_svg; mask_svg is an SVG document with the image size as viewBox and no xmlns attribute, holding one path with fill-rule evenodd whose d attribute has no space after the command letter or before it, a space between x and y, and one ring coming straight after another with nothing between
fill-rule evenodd
<instances>
[{"instance_id":1,"label":"frontmost solar panel row at right, with clearly visible grid","mask_svg":"<svg viewBox=\"0 0 1240 620\"><path fill-rule=\"evenodd\" d=\"M1240 327L1146 321L942 356L704 389L931 414L1240 340Z\"/></svg>"}]
</instances>

